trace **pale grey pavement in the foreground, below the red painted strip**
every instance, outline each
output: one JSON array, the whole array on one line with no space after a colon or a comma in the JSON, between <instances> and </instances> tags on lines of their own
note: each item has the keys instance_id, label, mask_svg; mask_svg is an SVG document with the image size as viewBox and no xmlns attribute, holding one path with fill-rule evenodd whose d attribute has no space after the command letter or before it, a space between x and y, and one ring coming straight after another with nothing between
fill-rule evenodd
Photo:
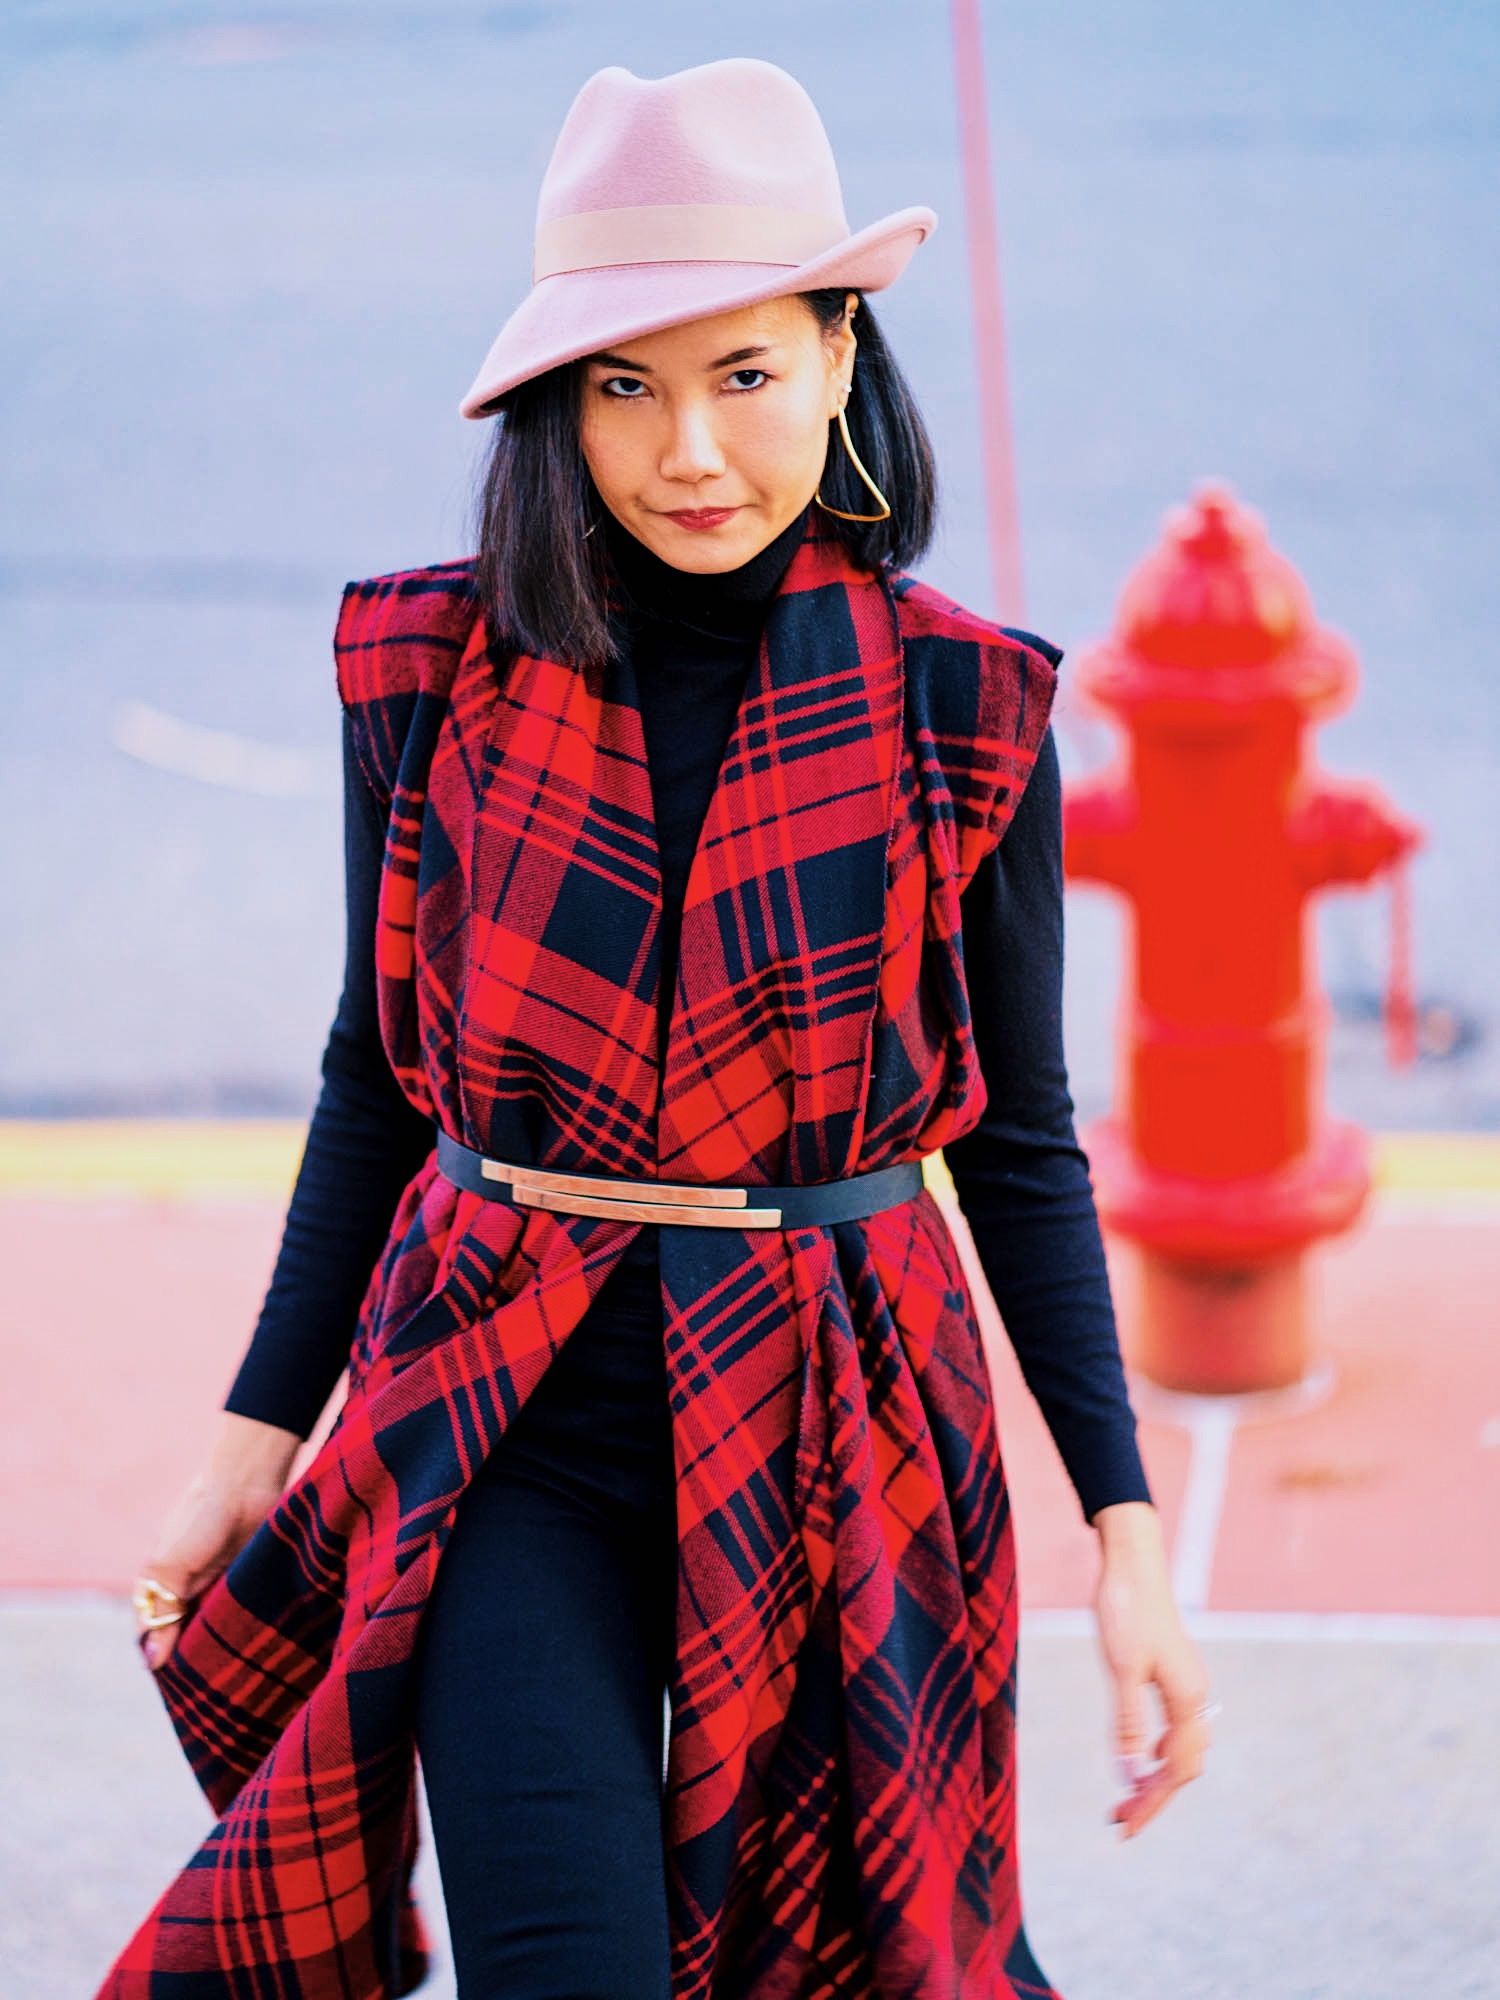
<instances>
[{"instance_id":1,"label":"pale grey pavement in the foreground, below the red painted strip","mask_svg":"<svg viewBox=\"0 0 1500 2000\"><path fill-rule=\"evenodd\" d=\"M1212 1764L1120 1842L1094 1644L1022 1622L1026 1924L1066 2000L1494 2000L1500 1648L1202 1648ZM208 1808L120 1600L0 1598L0 1992L86 2000ZM440 1934L426 1826L418 1896Z\"/></svg>"}]
</instances>

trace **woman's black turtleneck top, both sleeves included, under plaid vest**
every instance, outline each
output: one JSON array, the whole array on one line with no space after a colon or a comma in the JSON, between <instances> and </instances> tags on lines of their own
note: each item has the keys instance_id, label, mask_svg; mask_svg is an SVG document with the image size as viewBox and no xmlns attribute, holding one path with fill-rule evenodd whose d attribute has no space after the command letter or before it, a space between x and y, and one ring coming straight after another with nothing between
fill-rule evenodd
<instances>
[{"instance_id":1,"label":"woman's black turtleneck top, both sleeves included, under plaid vest","mask_svg":"<svg viewBox=\"0 0 1500 2000\"><path fill-rule=\"evenodd\" d=\"M766 606L802 540L804 516L742 568L704 576L662 562L612 516L604 532L620 582L622 640L636 674L656 814L664 1038L688 868ZM344 992L276 1270L224 1402L226 1410L302 1436L346 1366L400 1192L432 1150L432 1122L406 1100L380 1042L374 918L386 826L354 756L348 720L344 830ZM1062 784L1052 730L1006 838L976 870L960 908L988 1104L944 1158L1026 1384L1090 1518L1116 1500L1152 1494L1136 1448L1062 1052ZM636 1234L588 1318L608 1318L620 1342L660 1340L652 1226ZM560 1364L570 1350L580 1356L576 1380L566 1366L554 1366L542 1384L550 1384L548 1398L536 1394L528 1404L528 1450L588 1448L586 1410L566 1406L590 1392L578 1330ZM550 1426L548 1436L542 1426Z\"/></svg>"}]
</instances>

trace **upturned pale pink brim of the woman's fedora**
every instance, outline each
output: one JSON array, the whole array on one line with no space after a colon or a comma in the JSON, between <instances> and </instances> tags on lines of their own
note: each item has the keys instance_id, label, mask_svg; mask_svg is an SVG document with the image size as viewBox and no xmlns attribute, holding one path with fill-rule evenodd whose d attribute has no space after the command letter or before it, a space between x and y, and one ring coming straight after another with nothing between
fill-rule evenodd
<instances>
[{"instance_id":1,"label":"upturned pale pink brim of the woman's fedora","mask_svg":"<svg viewBox=\"0 0 1500 2000\"><path fill-rule=\"evenodd\" d=\"M520 382L684 320L834 284L880 292L936 226L930 208L898 208L806 264L612 264L542 278L496 334L458 414L494 416Z\"/></svg>"}]
</instances>

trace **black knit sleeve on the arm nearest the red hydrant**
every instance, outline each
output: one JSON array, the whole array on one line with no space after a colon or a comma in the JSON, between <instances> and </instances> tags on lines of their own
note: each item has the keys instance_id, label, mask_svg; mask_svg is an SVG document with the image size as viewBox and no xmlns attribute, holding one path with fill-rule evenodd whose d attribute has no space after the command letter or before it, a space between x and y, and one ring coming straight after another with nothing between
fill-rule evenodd
<instances>
[{"instance_id":1,"label":"black knit sleeve on the arm nearest the red hydrant","mask_svg":"<svg viewBox=\"0 0 1500 2000\"><path fill-rule=\"evenodd\" d=\"M944 1160L1026 1386L1092 1520L1152 1492L1062 1050L1062 774L1050 728L960 908L988 1104Z\"/></svg>"}]
</instances>

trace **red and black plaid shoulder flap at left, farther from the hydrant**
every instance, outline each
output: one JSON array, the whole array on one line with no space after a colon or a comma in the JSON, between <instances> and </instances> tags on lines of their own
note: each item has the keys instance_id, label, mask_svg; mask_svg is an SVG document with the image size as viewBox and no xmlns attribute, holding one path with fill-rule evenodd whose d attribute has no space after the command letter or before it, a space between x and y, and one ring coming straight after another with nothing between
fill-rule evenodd
<instances>
[{"instance_id":1,"label":"red and black plaid shoulder flap at left, farther from the hydrant","mask_svg":"<svg viewBox=\"0 0 1500 2000\"><path fill-rule=\"evenodd\" d=\"M340 698L446 692L476 614L472 556L346 584L334 628Z\"/></svg>"}]
</instances>

